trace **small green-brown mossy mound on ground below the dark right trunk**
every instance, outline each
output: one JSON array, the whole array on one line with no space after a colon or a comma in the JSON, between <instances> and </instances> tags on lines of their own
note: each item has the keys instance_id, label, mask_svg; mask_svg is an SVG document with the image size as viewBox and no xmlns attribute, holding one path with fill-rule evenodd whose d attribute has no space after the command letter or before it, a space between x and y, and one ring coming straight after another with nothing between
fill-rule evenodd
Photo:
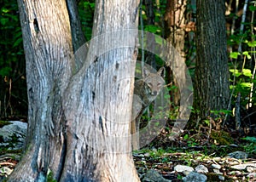
<instances>
[{"instance_id":1,"label":"small green-brown mossy mound on ground below the dark right trunk","mask_svg":"<svg viewBox=\"0 0 256 182\"><path fill-rule=\"evenodd\" d=\"M211 138L219 145L230 145L234 142L230 134L224 131L212 130Z\"/></svg>"}]
</instances>

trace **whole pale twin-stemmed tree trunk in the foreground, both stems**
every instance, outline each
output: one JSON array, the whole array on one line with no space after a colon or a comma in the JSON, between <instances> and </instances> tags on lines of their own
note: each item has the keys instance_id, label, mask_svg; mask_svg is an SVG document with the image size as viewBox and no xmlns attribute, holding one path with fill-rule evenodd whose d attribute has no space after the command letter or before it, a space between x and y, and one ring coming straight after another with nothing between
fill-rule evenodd
<instances>
[{"instance_id":1,"label":"whole pale twin-stemmed tree trunk in the foreground, both stems","mask_svg":"<svg viewBox=\"0 0 256 182\"><path fill-rule=\"evenodd\" d=\"M96 1L94 38L73 76L66 2L18 3L29 128L9 181L138 181L129 130L137 31L124 30L137 30L138 2Z\"/></svg>"}]
</instances>

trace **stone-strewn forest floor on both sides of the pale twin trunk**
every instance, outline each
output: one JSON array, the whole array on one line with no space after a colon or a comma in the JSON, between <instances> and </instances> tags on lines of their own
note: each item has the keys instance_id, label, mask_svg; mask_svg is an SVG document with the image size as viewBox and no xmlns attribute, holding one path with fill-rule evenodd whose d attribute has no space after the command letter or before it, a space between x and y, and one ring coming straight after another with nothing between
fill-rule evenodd
<instances>
[{"instance_id":1,"label":"stone-strewn forest floor on both sides of the pale twin trunk","mask_svg":"<svg viewBox=\"0 0 256 182\"><path fill-rule=\"evenodd\" d=\"M25 137L25 122L0 123L0 181L19 162ZM197 140L184 135L177 147L160 143L165 140L161 137L152 146L133 152L137 172L144 182L256 181L254 143L200 146Z\"/></svg>"}]
</instances>

